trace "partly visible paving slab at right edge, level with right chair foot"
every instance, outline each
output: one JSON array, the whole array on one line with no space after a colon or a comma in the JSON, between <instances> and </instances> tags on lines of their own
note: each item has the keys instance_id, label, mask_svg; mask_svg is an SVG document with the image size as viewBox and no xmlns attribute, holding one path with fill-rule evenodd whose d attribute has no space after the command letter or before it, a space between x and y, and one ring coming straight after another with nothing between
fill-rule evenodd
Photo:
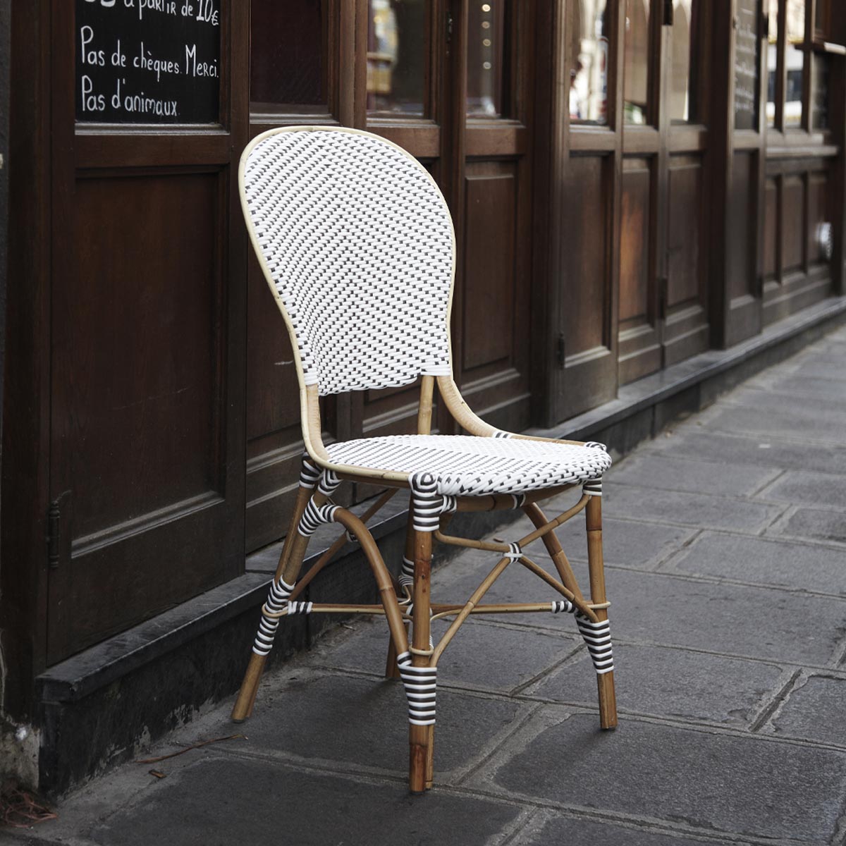
<instances>
[{"instance_id":1,"label":"partly visible paving slab at right edge, level with right chair foot","mask_svg":"<svg viewBox=\"0 0 846 846\"><path fill-rule=\"evenodd\" d=\"M846 678L802 678L772 718L772 730L846 746Z\"/></svg>"}]
</instances>

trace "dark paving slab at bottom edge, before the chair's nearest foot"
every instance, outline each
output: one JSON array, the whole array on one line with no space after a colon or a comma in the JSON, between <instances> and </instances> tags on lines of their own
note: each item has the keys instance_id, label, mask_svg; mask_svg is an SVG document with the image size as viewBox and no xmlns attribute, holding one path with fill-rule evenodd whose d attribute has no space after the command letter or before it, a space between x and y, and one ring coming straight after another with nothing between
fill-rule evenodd
<instances>
[{"instance_id":1,"label":"dark paving slab at bottom edge, before the chair's nearest foot","mask_svg":"<svg viewBox=\"0 0 846 846\"><path fill-rule=\"evenodd\" d=\"M169 777L91 838L102 846L442 846L460 831L461 843L483 846L518 814L492 799L431 792L419 799L401 783L215 758Z\"/></svg>"}]
</instances>

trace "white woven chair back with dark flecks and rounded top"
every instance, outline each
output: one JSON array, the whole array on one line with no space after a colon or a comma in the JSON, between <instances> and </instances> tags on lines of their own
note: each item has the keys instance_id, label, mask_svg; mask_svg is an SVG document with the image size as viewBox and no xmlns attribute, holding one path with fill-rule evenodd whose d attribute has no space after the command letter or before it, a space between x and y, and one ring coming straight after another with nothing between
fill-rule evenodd
<instances>
[{"instance_id":1,"label":"white woven chair back with dark flecks and rounded top","mask_svg":"<svg viewBox=\"0 0 846 846\"><path fill-rule=\"evenodd\" d=\"M349 129L273 129L244 151L248 228L321 394L451 372L455 236L426 169Z\"/></svg>"}]
</instances>

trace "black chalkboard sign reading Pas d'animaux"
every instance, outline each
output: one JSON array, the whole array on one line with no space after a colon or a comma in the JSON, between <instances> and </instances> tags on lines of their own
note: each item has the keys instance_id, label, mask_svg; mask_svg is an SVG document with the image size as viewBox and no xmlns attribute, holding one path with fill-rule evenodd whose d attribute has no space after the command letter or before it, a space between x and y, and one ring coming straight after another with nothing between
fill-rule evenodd
<instances>
[{"instance_id":1,"label":"black chalkboard sign reading Pas d'animaux","mask_svg":"<svg viewBox=\"0 0 846 846\"><path fill-rule=\"evenodd\" d=\"M76 119L217 124L220 0L76 0Z\"/></svg>"}]
</instances>

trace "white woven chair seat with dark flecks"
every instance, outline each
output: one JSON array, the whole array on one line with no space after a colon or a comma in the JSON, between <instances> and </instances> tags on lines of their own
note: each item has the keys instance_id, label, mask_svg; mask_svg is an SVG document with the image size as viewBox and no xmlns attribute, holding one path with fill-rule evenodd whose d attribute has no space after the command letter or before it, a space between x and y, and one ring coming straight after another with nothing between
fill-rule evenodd
<instances>
[{"instance_id":1,"label":"white woven chair seat with dark flecks","mask_svg":"<svg viewBox=\"0 0 846 846\"><path fill-rule=\"evenodd\" d=\"M602 444L466 435L393 435L327 444L335 464L365 470L431 473L437 493L522 493L596 479L611 465Z\"/></svg>"}]
</instances>

